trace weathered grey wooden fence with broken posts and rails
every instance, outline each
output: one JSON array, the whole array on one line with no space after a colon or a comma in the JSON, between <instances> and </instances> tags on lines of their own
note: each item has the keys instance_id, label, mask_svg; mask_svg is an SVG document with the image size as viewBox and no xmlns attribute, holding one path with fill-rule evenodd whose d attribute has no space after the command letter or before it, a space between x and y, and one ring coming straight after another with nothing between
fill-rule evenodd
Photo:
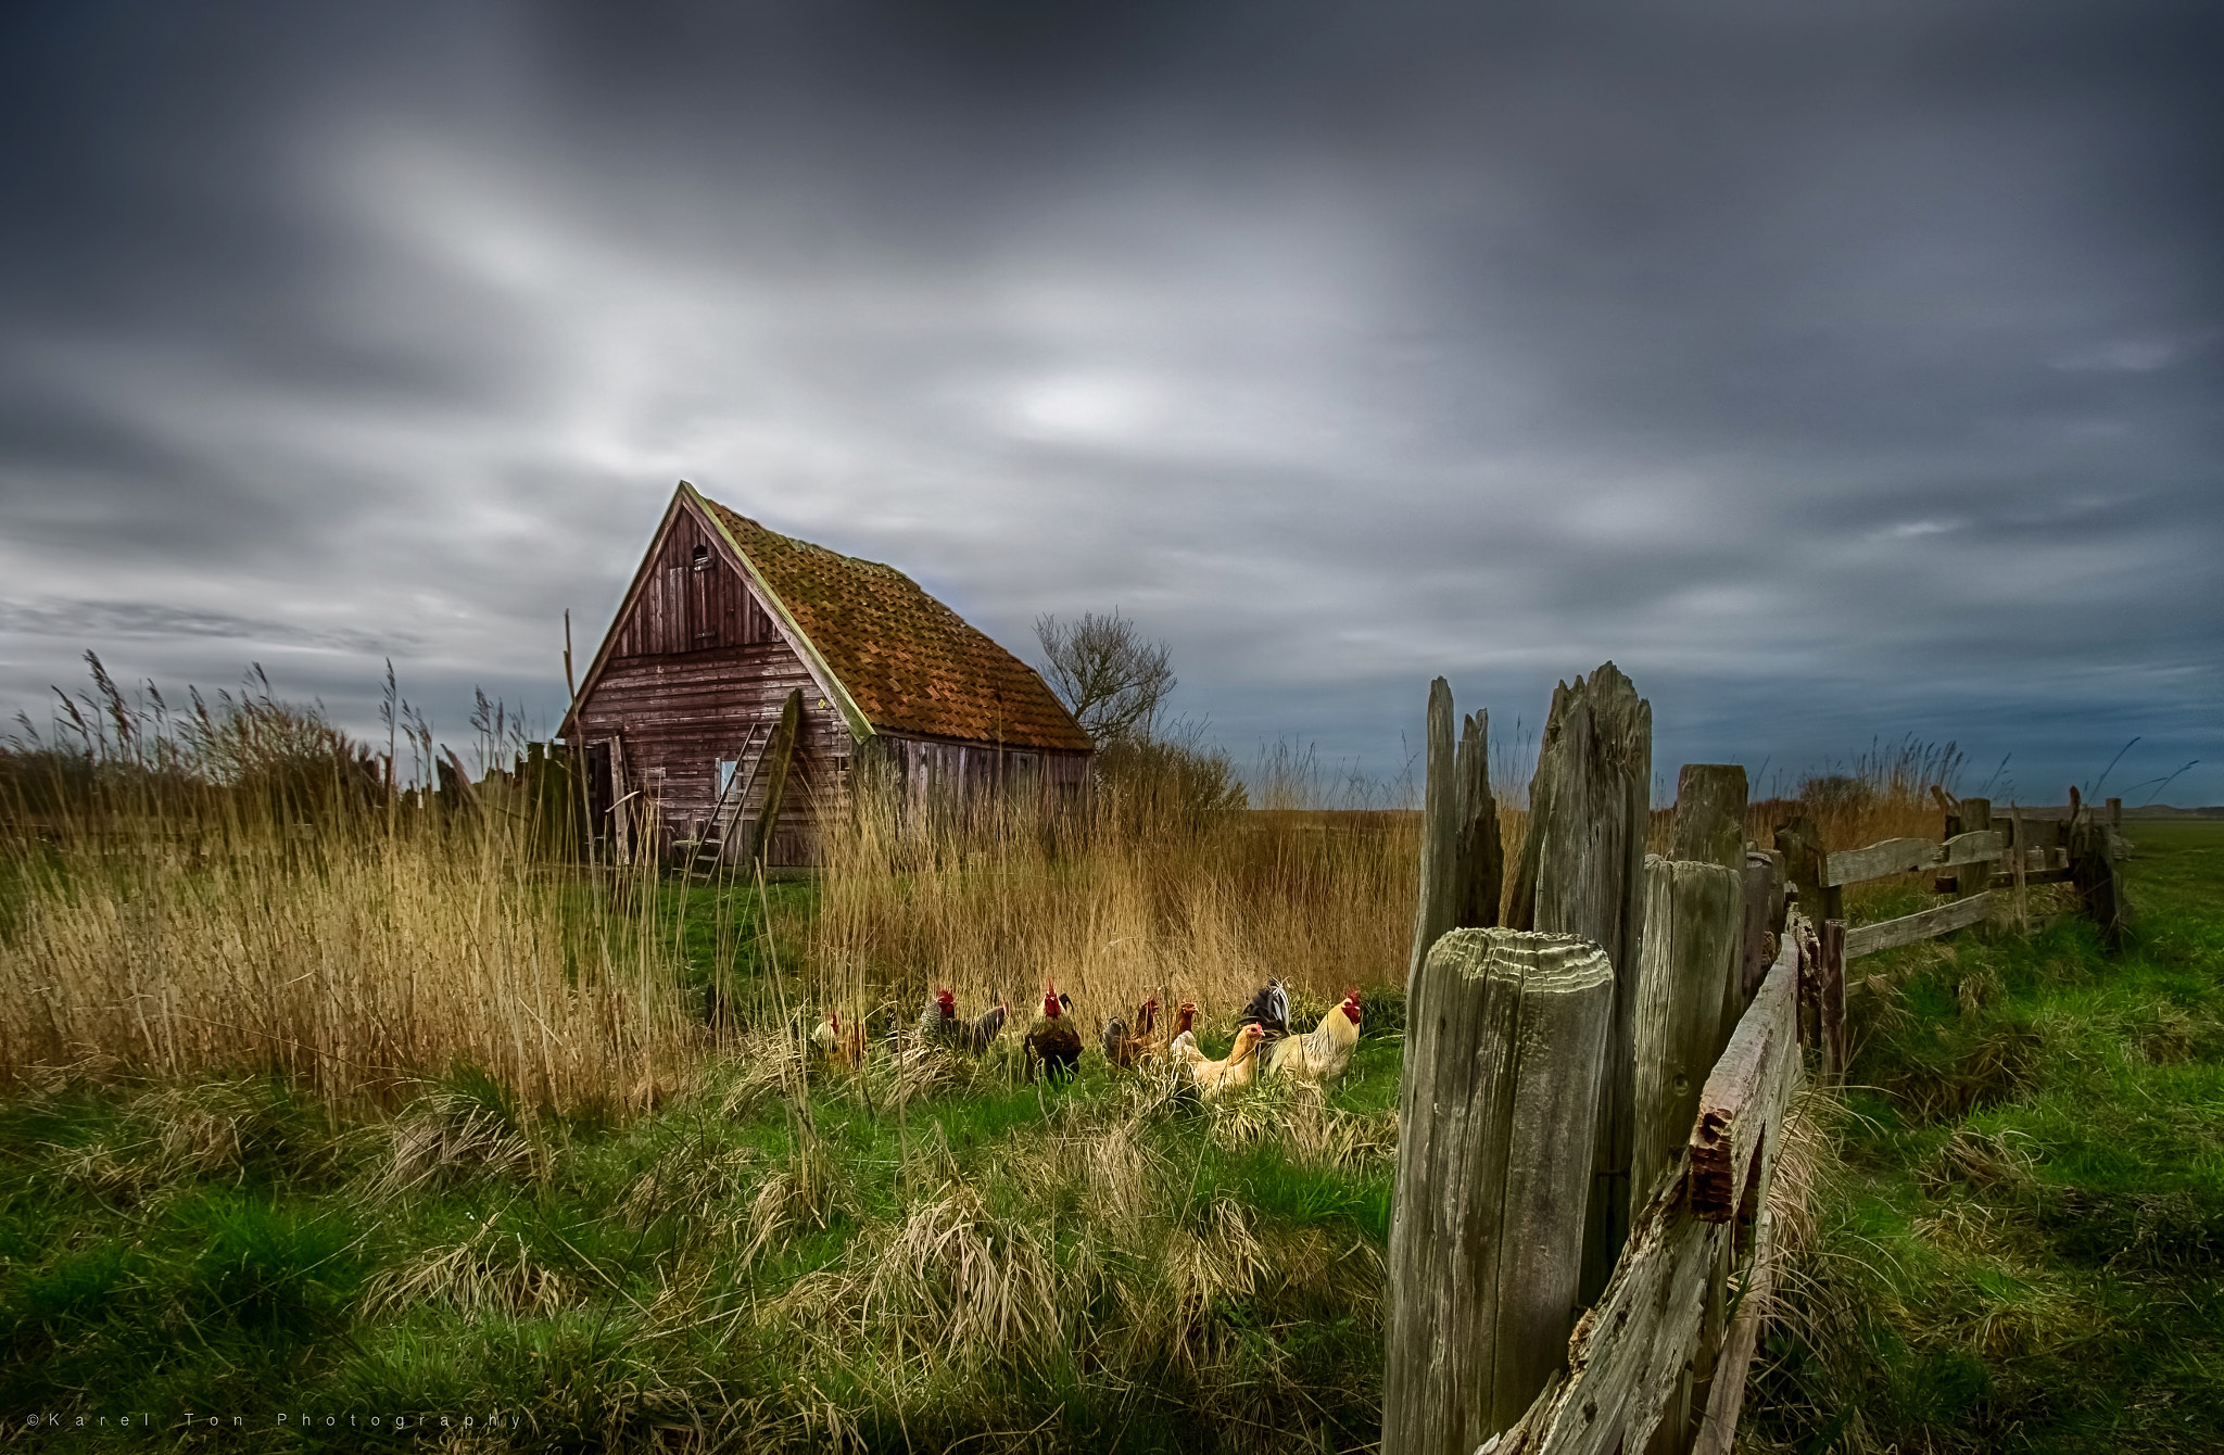
<instances>
[{"instance_id":1,"label":"weathered grey wooden fence with broken posts and rails","mask_svg":"<svg viewBox=\"0 0 2224 1455\"><path fill-rule=\"evenodd\" d=\"M1939 841L1824 854L1793 821L1759 850L1744 770L1688 765L1648 857L1650 707L1606 665L1555 692L1506 865L1488 716L1452 723L1439 679L1383 1455L1721 1455L1777 1277L1784 1119L1810 1070L1846 1070L1846 961L2051 881L2119 930L2115 803L1995 821L1942 794ZM1846 928L1844 885L1924 870L1957 899Z\"/></svg>"}]
</instances>

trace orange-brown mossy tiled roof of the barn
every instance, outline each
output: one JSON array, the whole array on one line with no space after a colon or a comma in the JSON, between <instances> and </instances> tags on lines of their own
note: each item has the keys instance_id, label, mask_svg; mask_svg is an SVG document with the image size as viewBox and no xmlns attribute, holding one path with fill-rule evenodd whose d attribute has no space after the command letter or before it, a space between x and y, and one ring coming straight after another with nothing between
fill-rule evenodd
<instances>
[{"instance_id":1,"label":"orange-brown mossy tiled roof of the barn","mask_svg":"<svg viewBox=\"0 0 2224 1455\"><path fill-rule=\"evenodd\" d=\"M716 501L703 505L874 728L1007 748L1094 748L1027 663L896 567L783 536Z\"/></svg>"}]
</instances>

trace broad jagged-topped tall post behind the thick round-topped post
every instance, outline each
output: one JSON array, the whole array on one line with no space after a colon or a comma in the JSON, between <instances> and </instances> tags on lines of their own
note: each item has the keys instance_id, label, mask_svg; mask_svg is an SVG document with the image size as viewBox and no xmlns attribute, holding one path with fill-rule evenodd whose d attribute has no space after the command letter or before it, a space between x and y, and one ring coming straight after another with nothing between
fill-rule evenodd
<instances>
[{"instance_id":1,"label":"broad jagged-topped tall post behind the thick round-topped post","mask_svg":"<svg viewBox=\"0 0 2224 1455\"><path fill-rule=\"evenodd\" d=\"M1515 877L1508 923L1579 934L1615 966L1615 1021L1608 1037L1597 1181L1583 1253L1583 1299L1595 1299L1615 1268L1630 1226L1630 1139L1635 1095L1637 943L1644 932L1646 830L1652 825L1652 703L1615 663L1552 690L1530 825Z\"/></svg>"}]
</instances>

